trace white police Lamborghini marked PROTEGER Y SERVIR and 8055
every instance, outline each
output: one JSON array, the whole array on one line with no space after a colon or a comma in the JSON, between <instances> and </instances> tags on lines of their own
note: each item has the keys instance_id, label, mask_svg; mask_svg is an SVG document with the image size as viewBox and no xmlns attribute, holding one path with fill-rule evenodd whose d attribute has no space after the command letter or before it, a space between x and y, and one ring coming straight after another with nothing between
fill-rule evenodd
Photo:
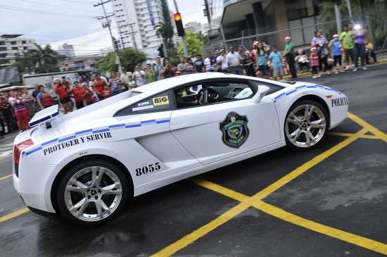
<instances>
[{"instance_id":1,"label":"white police Lamborghini marked PROTEGER Y SERVIR and 8055","mask_svg":"<svg viewBox=\"0 0 387 257\"><path fill-rule=\"evenodd\" d=\"M311 149L347 111L319 84L172 77L67 115L40 111L15 138L13 182L30 210L97 225L129 197L281 146Z\"/></svg>"}]
</instances>

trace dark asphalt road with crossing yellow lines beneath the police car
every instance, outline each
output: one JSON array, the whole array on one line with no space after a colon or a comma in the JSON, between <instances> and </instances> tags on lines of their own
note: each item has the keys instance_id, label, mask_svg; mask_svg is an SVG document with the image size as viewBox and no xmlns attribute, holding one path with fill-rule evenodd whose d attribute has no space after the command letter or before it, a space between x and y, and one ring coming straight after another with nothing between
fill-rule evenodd
<instances>
[{"instance_id":1,"label":"dark asphalt road with crossing yellow lines beneath the police car","mask_svg":"<svg viewBox=\"0 0 387 257\"><path fill-rule=\"evenodd\" d=\"M0 220L15 217L0 222L0 256L384 256L386 70L298 79L340 90L355 115L318 149L281 148L177 182L100 227L12 214L25 206L4 178L13 138L2 139Z\"/></svg>"}]
</instances>

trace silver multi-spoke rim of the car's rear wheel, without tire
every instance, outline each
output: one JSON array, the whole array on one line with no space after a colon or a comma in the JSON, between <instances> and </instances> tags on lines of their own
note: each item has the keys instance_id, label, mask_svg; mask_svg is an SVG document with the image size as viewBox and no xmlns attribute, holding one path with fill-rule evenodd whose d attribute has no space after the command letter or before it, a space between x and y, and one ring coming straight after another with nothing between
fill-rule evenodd
<instances>
[{"instance_id":1,"label":"silver multi-spoke rim of the car's rear wheel, without tire","mask_svg":"<svg viewBox=\"0 0 387 257\"><path fill-rule=\"evenodd\" d=\"M84 168L70 178L65 187L65 204L75 218L98 221L120 205L122 185L113 171L101 166Z\"/></svg>"}]
</instances>

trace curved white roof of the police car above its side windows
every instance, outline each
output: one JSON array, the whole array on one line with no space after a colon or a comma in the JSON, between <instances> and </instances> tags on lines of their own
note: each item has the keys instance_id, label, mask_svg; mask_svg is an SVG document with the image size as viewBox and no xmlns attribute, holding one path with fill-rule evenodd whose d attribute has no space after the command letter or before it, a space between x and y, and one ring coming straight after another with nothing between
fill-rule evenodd
<instances>
[{"instance_id":1,"label":"curved white roof of the police car above its side windows","mask_svg":"<svg viewBox=\"0 0 387 257\"><path fill-rule=\"evenodd\" d=\"M141 87L136 87L133 89L134 91L144 92L144 93L157 93L163 92L168 89L172 89L181 84L186 84L189 82L195 82L198 80L208 80L208 79L220 79L220 78L243 78L243 79L252 79L253 77L234 75L229 73L194 73L181 75L177 77L170 77L164 80L158 80L156 82L151 82L149 84L145 84Z\"/></svg>"}]
</instances>

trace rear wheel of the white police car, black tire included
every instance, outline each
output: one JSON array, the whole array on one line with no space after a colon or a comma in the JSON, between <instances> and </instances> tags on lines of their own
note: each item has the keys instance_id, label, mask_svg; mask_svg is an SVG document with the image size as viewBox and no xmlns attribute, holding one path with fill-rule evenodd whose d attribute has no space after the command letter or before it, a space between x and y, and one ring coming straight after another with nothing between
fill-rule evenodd
<instances>
[{"instance_id":1,"label":"rear wheel of the white police car, black tire included","mask_svg":"<svg viewBox=\"0 0 387 257\"><path fill-rule=\"evenodd\" d=\"M96 183L99 181L97 187L93 186L94 184L92 184L92 170L94 170L96 174L101 174L101 170L104 170L101 179L99 179L98 176L95 178ZM80 177L77 177L78 175L80 175ZM75 177L77 178L75 179ZM66 187L74 188L74 181L83 183L80 184L81 187L78 185L76 187L76 190L80 189L82 192L66 189ZM68 183L72 184L72 186ZM120 185L118 185L118 183L120 183ZM84 188L84 186L87 186L87 188ZM108 190L107 187L109 186L114 187L113 189ZM118 190L118 188L120 190ZM119 194L120 191L121 195ZM111 194L111 192L113 192L113 194ZM72 166L61 177L61 181L58 184L56 201L58 203L58 207L60 208L62 217L66 220L70 220L70 222L77 225L95 226L101 225L115 218L115 216L118 215L118 213L122 210L122 207L125 206L129 192L131 192L131 190L129 190L127 178L125 177L124 172L117 165L105 160L91 159ZM80 213L81 209L84 208L82 211L82 217L77 217L75 215L74 211L76 212L76 209L72 210L73 212L69 210L69 206L71 206L71 204L73 204L72 207L75 208L76 204L74 203L80 203L82 200L87 201L87 198L89 199L88 203L86 204L87 207L84 208L82 204L82 207L78 209L78 213ZM97 208L98 201L99 208ZM93 211L93 205L95 211ZM103 207L101 208L101 206ZM113 206L111 208L111 212L110 206ZM108 207L108 210L105 210L106 207ZM99 215L98 209L101 211L102 216ZM87 212L91 214L88 214ZM90 217L87 218L87 215ZM96 218L91 218L91 216L94 217L94 215L96 215Z\"/></svg>"}]
</instances>

